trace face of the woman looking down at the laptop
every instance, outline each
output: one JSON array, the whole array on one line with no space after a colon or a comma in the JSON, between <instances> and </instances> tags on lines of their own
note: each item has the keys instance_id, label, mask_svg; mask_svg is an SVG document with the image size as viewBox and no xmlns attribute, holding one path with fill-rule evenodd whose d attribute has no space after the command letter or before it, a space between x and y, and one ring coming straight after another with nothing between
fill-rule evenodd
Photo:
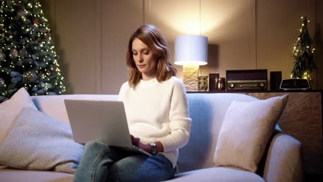
<instances>
[{"instance_id":1,"label":"face of the woman looking down at the laptop","mask_svg":"<svg viewBox=\"0 0 323 182\"><path fill-rule=\"evenodd\" d=\"M153 51L138 38L133 40L133 60L135 60L143 80L150 80L156 77L157 59Z\"/></svg>"}]
</instances>

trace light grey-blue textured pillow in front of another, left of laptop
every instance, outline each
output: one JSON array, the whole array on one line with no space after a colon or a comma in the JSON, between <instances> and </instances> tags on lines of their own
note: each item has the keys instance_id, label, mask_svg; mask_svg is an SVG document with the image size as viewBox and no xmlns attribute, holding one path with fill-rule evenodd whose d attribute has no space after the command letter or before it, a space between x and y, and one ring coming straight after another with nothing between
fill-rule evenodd
<instances>
[{"instance_id":1,"label":"light grey-blue textured pillow in front of another, left of laptop","mask_svg":"<svg viewBox=\"0 0 323 182\"><path fill-rule=\"evenodd\" d=\"M0 144L0 165L26 170L74 173L83 145L70 126L32 108L23 108Z\"/></svg>"}]
</instances>

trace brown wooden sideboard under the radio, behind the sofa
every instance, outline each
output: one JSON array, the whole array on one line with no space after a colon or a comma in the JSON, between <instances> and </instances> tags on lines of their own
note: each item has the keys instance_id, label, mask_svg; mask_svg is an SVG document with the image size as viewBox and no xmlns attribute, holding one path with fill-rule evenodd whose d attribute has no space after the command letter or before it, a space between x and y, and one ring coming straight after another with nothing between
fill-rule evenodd
<instances>
[{"instance_id":1,"label":"brown wooden sideboard under the radio, behind the sofa","mask_svg":"<svg viewBox=\"0 0 323 182\"><path fill-rule=\"evenodd\" d=\"M302 143L304 171L323 173L322 92L248 93L258 99L288 94L286 108L278 125Z\"/></svg>"}]
</instances>

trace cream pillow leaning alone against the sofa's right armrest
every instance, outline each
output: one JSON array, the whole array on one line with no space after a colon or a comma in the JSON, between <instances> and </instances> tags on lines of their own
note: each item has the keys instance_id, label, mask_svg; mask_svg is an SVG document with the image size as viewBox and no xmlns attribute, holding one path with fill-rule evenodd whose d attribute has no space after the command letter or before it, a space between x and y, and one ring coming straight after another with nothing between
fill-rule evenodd
<instances>
[{"instance_id":1,"label":"cream pillow leaning alone against the sofa's right armrest","mask_svg":"<svg viewBox=\"0 0 323 182\"><path fill-rule=\"evenodd\" d=\"M219 131L215 165L255 172L287 99L288 95L257 101L233 101Z\"/></svg>"}]
</instances>

